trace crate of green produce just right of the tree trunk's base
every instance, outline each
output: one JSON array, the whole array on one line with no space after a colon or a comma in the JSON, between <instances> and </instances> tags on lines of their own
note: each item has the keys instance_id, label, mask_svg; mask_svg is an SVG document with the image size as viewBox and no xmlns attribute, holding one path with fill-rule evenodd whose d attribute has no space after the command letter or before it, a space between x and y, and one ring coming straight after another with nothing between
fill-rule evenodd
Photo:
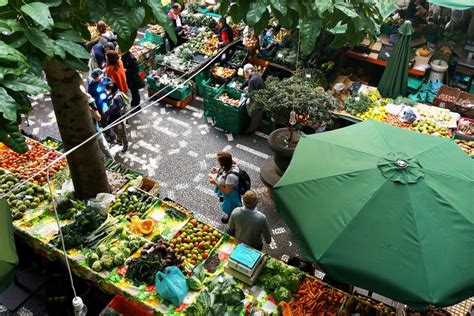
<instances>
[{"instance_id":1,"label":"crate of green produce just right of the tree trunk's base","mask_svg":"<svg viewBox=\"0 0 474 316\"><path fill-rule=\"evenodd\" d=\"M114 216L129 214L142 217L157 201L158 198L156 197L134 187L128 187L125 192L122 192L115 199L110 213Z\"/></svg>"}]
</instances>

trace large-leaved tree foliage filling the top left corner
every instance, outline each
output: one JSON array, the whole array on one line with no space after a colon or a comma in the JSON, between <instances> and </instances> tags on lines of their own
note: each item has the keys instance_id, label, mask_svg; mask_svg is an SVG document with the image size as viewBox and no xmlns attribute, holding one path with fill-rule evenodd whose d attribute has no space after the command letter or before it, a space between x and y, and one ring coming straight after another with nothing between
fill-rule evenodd
<instances>
[{"instance_id":1,"label":"large-leaved tree foliage filling the top left corner","mask_svg":"<svg viewBox=\"0 0 474 316\"><path fill-rule=\"evenodd\" d=\"M0 0L0 7L0 142L20 153L27 146L17 115L31 109L28 95L49 91L39 79L43 63L56 58L71 69L88 69L90 54L81 45L91 37L87 23L105 20L123 50L153 18L175 39L173 23L156 0Z\"/></svg>"}]
</instances>

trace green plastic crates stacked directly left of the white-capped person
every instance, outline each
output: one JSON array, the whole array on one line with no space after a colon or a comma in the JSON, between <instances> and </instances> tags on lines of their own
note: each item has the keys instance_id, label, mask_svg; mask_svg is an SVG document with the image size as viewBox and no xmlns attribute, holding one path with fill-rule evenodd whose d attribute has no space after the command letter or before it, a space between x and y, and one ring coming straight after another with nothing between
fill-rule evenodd
<instances>
[{"instance_id":1,"label":"green plastic crates stacked directly left of the white-capped person","mask_svg":"<svg viewBox=\"0 0 474 316\"><path fill-rule=\"evenodd\" d=\"M232 134L241 134L250 124L247 108L245 106L235 107L221 102L219 97L224 93L227 93L231 98L240 99L239 93L226 89L223 89L214 97L214 102L211 103L211 117L214 126Z\"/></svg>"}]
</instances>

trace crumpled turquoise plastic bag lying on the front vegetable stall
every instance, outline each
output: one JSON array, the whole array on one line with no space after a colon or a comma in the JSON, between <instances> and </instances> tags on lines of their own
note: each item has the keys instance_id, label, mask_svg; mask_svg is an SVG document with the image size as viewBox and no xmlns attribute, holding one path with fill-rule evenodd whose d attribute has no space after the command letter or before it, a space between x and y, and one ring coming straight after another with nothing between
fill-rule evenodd
<instances>
[{"instance_id":1,"label":"crumpled turquoise plastic bag lying on the front vegetable stall","mask_svg":"<svg viewBox=\"0 0 474 316\"><path fill-rule=\"evenodd\" d=\"M158 271L155 276L155 287L158 294L178 307L188 293L186 278L176 266L166 267L163 272Z\"/></svg>"}]
</instances>

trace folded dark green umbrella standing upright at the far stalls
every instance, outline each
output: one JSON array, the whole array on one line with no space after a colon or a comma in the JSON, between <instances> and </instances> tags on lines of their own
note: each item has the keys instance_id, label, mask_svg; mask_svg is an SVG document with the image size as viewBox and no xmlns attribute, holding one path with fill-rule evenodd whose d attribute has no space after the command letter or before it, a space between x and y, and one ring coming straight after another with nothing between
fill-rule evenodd
<instances>
[{"instance_id":1,"label":"folded dark green umbrella standing upright at the far stalls","mask_svg":"<svg viewBox=\"0 0 474 316\"><path fill-rule=\"evenodd\" d=\"M408 94L408 63L410 62L411 34L410 21L405 21L398 29L400 37L392 50L387 68L379 83L379 91L386 98L395 99Z\"/></svg>"}]
</instances>

